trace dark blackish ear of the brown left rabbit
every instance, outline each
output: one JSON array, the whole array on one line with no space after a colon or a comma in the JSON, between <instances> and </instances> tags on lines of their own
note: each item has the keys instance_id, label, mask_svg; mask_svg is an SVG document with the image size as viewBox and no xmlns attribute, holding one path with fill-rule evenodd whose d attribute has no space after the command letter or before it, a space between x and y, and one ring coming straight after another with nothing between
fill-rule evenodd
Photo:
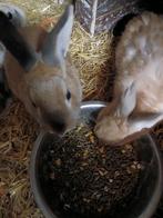
<instances>
[{"instance_id":1,"label":"dark blackish ear of the brown left rabbit","mask_svg":"<svg viewBox=\"0 0 163 218\"><path fill-rule=\"evenodd\" d=\"M8 17L0 11L0 41L12 53L21 67L29 71L37 61L35 53L27 44Z\"/></svg>"}]
</instances>

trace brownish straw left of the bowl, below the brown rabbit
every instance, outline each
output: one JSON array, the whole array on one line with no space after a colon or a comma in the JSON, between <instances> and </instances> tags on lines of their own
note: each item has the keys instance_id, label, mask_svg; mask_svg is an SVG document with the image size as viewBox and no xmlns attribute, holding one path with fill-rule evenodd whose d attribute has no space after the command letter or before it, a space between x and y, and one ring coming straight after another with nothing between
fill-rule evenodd
<instances>
[{"instance_id":1,"label":"brownish straw left of the bowl, below the brown rabbit","mask_svg":"<svg viewBox=\"0 0 163 218\"><path fill-rule=\"evenodd\" d=\"M34 217L38 214L28 178L37 127L19 101L14 101L0 119L0 217ZM41 217L38 215L35 217Z\"/></svg>"}]
</instances>

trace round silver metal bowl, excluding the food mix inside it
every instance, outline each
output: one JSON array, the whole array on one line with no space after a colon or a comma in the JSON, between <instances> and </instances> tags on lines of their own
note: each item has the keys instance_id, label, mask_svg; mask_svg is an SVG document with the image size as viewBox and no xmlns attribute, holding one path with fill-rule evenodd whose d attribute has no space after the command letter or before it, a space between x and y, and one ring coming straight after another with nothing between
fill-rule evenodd
<instances>
[{"instance_id":1,"label":"round silver metal bowl, excluding the food mix inside it","mask_svg":"<svg viewBox=\"0 0 163 218\"><path fill-rule=\"evenodd\" d=\"M81 120L94 123L95 117L104 102L88 101L81 106ZM54 141L55 137L50 133L40 133L31 153L30 182L34 199L45 218L68 218L62 211L54 211L49 205L49 196L42 191L40 177L40 160L47 145ZM154 214L162 195L163 167L161 153L150 135L145 135L135 141L140 161L145 164L145 170L140 172L140 181L134 198L129 202L119 218L151 218ZM69 218L72 218L70 216ZM77 217L78 218L78 217Z\"/></svg>"}]
</instances>

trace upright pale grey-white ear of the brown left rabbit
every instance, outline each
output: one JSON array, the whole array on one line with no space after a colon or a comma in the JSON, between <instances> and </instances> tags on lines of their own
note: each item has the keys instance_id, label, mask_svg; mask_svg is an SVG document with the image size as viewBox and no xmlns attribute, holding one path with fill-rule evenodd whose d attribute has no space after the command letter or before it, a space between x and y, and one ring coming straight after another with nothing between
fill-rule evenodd
<instances>
[{"instance_id":1,"label":"upright pale grey-white ear of the brown left rabbit","mask_svg":"<svg viewBox=\"0 0 163 218\"><path fill-rule=\"evenodd\" d=\"M57 26L47 36L42 58L50 66L63 66L73 26L73 6L69 4Z\"/></svg>"}]
</instances>

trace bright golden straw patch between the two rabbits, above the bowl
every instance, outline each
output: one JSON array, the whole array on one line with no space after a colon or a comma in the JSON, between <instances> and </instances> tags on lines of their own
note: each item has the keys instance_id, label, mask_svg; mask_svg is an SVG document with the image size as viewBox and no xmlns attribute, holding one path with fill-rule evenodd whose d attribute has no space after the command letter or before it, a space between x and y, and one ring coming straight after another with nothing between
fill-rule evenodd
<instances>
[{"instance_id":1,"label":"bright golden straw patch between the two rabbits, above the bowl","mask_svg":"<svg viewBox=\"0 0 163 218\"><path fill-rule=\"evenodd\" d=\"M101 33L91 38L77 22L70 52L80 71L85 99L105 99L112 34Z\"/></svg>"}]
</instances>

